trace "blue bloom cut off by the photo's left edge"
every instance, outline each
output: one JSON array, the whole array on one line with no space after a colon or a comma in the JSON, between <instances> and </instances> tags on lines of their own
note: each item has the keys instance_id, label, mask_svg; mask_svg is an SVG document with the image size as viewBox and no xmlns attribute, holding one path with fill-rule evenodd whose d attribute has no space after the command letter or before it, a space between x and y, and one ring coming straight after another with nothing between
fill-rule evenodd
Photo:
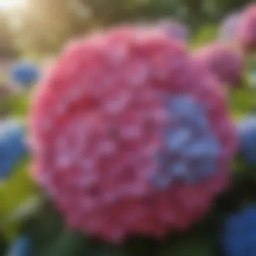
<instances>
[{"instance_id":1,"label":"blue bloom cut off by the photo's left edge","mask_svg":"<svg viewBox=\"0 0 256 256\"><path fill-rule=\"evenodd\" d=\"M26 154L24 127L16 121L0 122L0 179L13 170L17 161Z\"/></svg>"}]
</instances>

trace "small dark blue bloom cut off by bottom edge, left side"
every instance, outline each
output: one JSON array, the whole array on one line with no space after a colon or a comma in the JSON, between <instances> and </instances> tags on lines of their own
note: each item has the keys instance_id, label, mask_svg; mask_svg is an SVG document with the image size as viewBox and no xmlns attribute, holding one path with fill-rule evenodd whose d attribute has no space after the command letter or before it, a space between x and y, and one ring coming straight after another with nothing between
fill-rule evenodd
<instances>
[{"instance_id":1,"label":"small dark blue bloom cut off by bottom edge, left side","mask_svg":"<svg viewBox=\"0 0 256 256\"><path fill-rule=\"evenodd\" d=\"M32 255L32 248L30 238L27 236L20 236L12 243L7 251L6 256L30 256Z\"/></svg>"}]
</instances>

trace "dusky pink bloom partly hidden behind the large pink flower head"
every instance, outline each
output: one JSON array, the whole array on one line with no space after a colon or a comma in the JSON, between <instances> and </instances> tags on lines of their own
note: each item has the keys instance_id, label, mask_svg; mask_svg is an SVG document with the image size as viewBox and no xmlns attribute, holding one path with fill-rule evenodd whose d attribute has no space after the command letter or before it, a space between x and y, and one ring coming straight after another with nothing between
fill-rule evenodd
<instances>
[{"instance_id":1,"label":"dusky pink bloom partly hidden behind the large pink flower head","mask_svg":"<svg viewBox=\"0 0 256 256\"><path fill-rule=\"evenodd\" d=\"M222 84L237 86L244 70L243 55L226 44L212 43L195 52L195 59Z\"/></svg>"}]
</instances>

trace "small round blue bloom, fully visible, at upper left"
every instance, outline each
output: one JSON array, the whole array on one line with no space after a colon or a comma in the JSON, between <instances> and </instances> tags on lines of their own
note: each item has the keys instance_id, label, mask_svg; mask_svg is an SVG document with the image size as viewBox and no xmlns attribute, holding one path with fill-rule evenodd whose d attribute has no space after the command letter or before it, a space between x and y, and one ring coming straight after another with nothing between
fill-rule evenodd
<instances>
[{"instance_id":1,"label":"small round blue bloom, fully visible, at upper left","mask_svg":"<svg viewBox=\"0 0 256 256\"><path fill-rule=\"evenodd\" d=\"M16 63L11 70L11 80L21 86L31 86L40 76L38 67L33 63Z\"/></svg>"}]
</instances>

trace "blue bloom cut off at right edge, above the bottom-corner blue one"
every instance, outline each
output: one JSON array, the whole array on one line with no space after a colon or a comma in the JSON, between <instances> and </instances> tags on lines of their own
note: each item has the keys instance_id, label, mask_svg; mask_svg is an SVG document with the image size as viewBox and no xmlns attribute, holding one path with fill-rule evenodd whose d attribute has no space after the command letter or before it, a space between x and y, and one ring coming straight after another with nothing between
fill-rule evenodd
<instances>
[{"instance_id":1,"label":"blue bloom cut off at right edge, above the bottom-corner blue one","mask_svg":"<svg viewBox=\"0 0 256 256\"><path fill-rule=\"evenodd\" d=\"M238 133L245 164L256 165L256 116L242 119L238 123Z\"/></svg>"}]
</instances>

